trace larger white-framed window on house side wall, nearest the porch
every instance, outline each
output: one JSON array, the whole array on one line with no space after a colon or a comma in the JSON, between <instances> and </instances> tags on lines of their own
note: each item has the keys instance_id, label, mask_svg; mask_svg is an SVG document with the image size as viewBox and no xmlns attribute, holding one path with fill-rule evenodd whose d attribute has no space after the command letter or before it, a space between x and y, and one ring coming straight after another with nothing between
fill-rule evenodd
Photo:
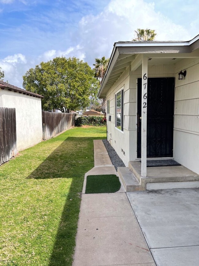
<instances>
[{"instance_id":1,"label":"larger white-framed window on house side wall, nearest the porch","mask_svg":"<svg viewBox=\"0 0 199 266\"><path fill-rule=\"evenodd\" d=\"M115 127L123 131L124 89L115 94Z\"/></svg>"}]
</instances>

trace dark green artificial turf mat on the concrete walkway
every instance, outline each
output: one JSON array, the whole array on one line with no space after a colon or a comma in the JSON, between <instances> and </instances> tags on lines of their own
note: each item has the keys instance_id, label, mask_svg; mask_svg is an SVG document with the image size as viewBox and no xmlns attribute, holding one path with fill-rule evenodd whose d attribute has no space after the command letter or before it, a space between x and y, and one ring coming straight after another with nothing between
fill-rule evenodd
<instances>
[{"instance_id":1,"label":"dark green artificial turf mat on the concrete walkway","mask_svg":"<svg viewBox=\"0 0 199 266\"><path fill-rule=\"evenodd\" d=\"M85 194L113 193L118 191L120 187L121 184L117 175L88 175Z\"/></svg>"}]
</instances>

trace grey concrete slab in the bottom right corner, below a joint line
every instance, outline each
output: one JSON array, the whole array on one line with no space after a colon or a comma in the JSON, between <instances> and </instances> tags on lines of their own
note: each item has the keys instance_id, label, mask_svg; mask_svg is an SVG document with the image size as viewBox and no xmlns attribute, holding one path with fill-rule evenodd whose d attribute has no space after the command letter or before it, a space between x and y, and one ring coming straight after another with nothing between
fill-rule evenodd
<instances>
[{"instance_id":1,"label":"grey concrete slab in the bottom right corner, below a joint line","mask_svg":"<svg viewBox=\"0 0 199 266\"><path fill-rule=\"evenodd\" d=\"M198 266L199 246L151 249L157 266Z\"/></svg>"}]
</instances>

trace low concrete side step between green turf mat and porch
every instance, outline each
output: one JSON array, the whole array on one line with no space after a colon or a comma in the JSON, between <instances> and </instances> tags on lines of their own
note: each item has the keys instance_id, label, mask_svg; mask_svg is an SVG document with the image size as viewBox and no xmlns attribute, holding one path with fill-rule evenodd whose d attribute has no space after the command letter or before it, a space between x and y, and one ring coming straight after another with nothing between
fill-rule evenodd
<instances>
[{"instance_id":1,"label":"low concrete side step between green turf mat and porch","mask_svg":"<svg viewBox=\"0 0 199 266\"><path fill-rule=\"evenodd\" d=\"M145 190L128 167L118 167L118 175L126 192Z\"/></svg>"}]
</instances>

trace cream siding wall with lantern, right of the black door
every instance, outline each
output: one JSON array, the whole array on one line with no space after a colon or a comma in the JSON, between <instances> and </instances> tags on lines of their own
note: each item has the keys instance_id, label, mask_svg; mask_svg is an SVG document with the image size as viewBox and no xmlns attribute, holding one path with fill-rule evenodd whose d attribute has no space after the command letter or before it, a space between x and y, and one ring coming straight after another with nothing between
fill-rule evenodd
<instances>
[{"instance_id":1,"label":"cream siding wall with lantern, right of the black door","mask_svg":"<svg viewBox=\"0 0 199 266\"><path fill-rule=\"evenodd\" d=\"M186 77L178 80L178 73ZM174 159L199 174L199 60L175 65Z\"/></svg>"}]
</instances>

